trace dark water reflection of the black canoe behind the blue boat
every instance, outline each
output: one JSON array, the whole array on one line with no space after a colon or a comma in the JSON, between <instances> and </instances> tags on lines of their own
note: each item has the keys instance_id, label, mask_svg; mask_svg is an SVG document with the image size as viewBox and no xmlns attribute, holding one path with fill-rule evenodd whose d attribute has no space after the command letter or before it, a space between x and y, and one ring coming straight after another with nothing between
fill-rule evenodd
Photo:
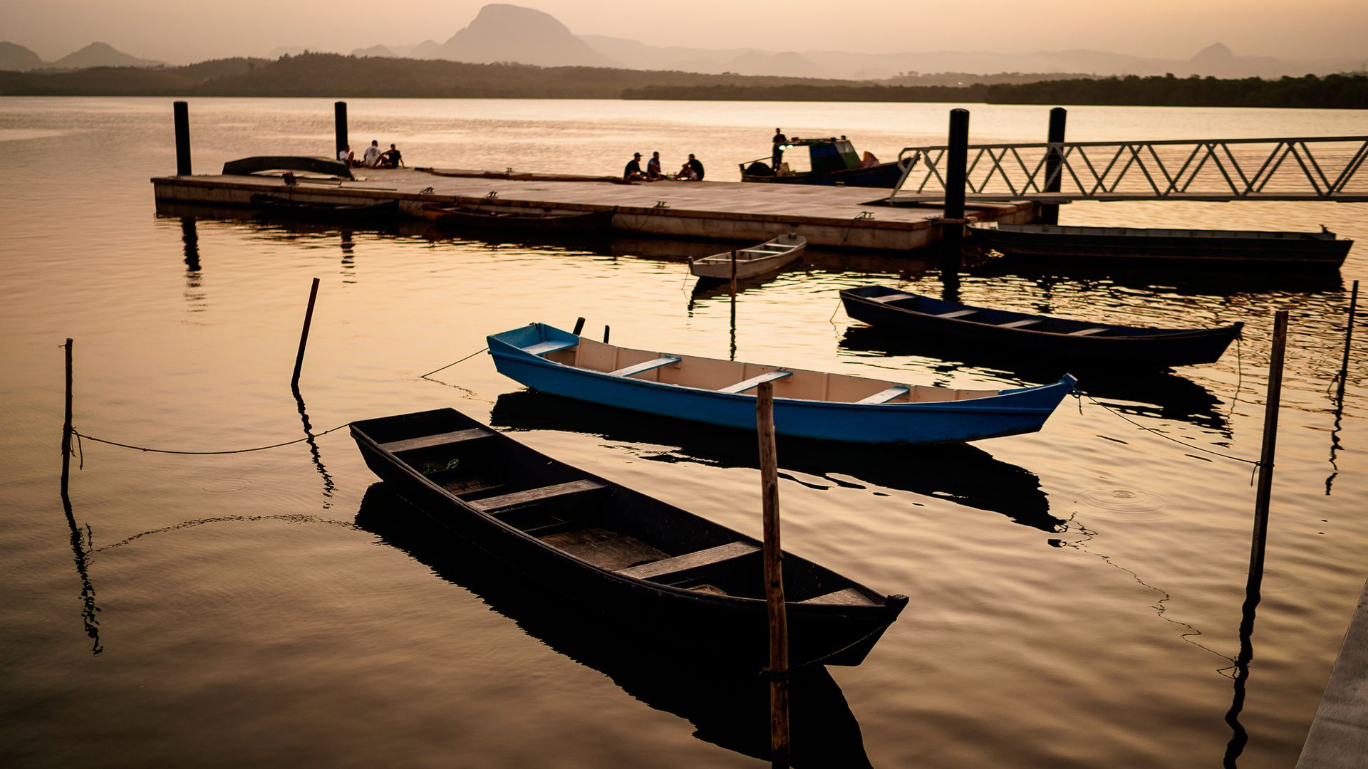
<instances>
[{"instance_id":1,"label":"dark water reflection of the black canoe behind the blue boat","mask_svg":"<svg viewBox=\"0 0 1368 769\"><path fill-rule=\"evenodd\" d=\"M851 326L840 341L845 350L877 353L880 356L929 356L945 364L929 365L938 372L960 368L986 368L1004 378L1029 383L1048 383L1063 374L1078 376L1078 389L1093 398L1107 401L1107 406L1130 416L1176 419L1222 434L1228 431L1222 400L1201 384L1172 371L1114 371L1105 367L1079 368L1073 364L1031 357L1011 357L1003 350L978 352L969 345L938 343L936 339L912 338L874 328ZM1112 402L1126 401L1126 402ZM1148 404L1148 406L1146 406Z\"/></svg>"}]
</instances>

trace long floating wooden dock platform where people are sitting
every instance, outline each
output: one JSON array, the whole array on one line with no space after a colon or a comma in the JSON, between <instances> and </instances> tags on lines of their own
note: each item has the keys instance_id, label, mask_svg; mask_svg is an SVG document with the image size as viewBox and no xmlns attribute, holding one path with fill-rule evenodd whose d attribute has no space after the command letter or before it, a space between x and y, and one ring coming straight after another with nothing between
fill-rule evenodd
<instances>
[{"instance_id":1,"label":"long floating wooden dock platform where people are sitting","mask_svg":"<svg viewBox=\"0 0 1368 769\"><path fill-rule=\"evenodd\" d=\"M941 205L878 205L885 190L817 185L741 182L618 183L594 177L492 174L417 168L358 168L356 181L280 177L156 177L156 201L250 205L265 193L319 203L398 200L405 215L420 216L428 203L483 203L503 209L611 209L613 230L624 234L765 241L796 231L825 248L911 250L941 238ZM1022 223L1036 216L1031 201L967 207L978 222Z\"/></svg>"}]
</instances>

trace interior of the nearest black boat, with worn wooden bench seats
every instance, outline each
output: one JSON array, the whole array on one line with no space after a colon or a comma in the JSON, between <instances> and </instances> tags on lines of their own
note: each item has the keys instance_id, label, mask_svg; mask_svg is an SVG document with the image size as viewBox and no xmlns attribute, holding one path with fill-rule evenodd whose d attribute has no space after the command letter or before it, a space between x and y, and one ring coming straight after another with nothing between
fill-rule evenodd
<instances>
[{"instance_id":1,"label":"interior of the nearest black boat, with worn wooden bench seats","mask_svg":"<svg viewBox=\"0 0 1368 769\"><path fill-rule=\"evenodd\" d=\"M699 595L765 598L755 539L551 460L453 409L357 421L353 432L464 502L469 514L568 558ZM446 509L435 517L456 514ZM784 569L789 602L885 603L811 561L785 554Z\"/></svg>"}]
</instances>

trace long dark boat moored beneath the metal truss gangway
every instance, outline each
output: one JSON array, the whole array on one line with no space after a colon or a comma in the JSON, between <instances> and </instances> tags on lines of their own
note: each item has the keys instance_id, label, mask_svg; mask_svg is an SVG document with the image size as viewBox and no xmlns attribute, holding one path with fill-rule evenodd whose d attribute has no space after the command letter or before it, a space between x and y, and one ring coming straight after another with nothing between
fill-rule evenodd
<instances>
[{"instance_id":1,"label":"long dark boat moored beneath the metal truss gangway","mask_svg":"<svg viewBox=\"0 0 1368 769\"><path fill-rule=\"evenodd\" d=\"M1062 227L1056 224L970 224L975 239L1015 256L1086 260L1092 264L1144 261L1166 267L1213 264L1338 268L1353 241L1334 233L1254 230L1152 230Z\"/></svg>"}]
</instances>

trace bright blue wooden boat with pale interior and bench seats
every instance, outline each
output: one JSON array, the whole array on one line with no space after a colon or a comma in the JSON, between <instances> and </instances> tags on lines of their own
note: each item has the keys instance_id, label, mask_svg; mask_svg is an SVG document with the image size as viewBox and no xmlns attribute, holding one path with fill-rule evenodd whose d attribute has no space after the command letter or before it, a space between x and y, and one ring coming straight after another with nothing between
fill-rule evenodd
<instances>
[{"instance_id":1,"label":"bright blue wooden boat with pale interior and bench seats","mask_svg":"<svg viewBox=\"0 0 1368 769\"><path fill-rule=\"evenodd\" d=\"M1074 389L955 390L618 348L534 323L488 338L499 374L580 401L755 430L754 389L774 383L780 435L854 443L951 443L1034 432Z\"/></svg>"}]
</instances>

